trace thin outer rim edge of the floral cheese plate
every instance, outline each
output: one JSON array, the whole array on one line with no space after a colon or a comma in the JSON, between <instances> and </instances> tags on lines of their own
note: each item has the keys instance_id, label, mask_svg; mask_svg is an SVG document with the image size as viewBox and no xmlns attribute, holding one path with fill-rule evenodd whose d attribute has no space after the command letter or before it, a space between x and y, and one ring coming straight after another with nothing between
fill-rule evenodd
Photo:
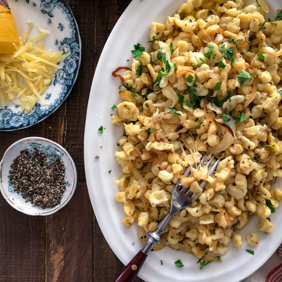
<instances>
[{"instance_id":1,"label":"thin outer rim edge of the floral cheese plate","mask_svg":"<svg viewBox=\"0 0 282 282\"><path fill-rule=\"evenodd\" d=\"M76 83L76 80L77 80L77 77L78 77L78 72L79 72L79 69L80 69L80 65L81 65L81 49L82 49L82 46L81 46L81 37L80 37L80 32L79 32L79 28L78 28L78 24L77 24L77 21L74 17L74 14L72 12L72 9L70 8L69 4L65 1L65 0L60 0L60 2L63 2L64 5L67 6L67 8L69 8L69 11L70 11L70 14L72 15L72 18L74 19L74 23L76 25L76 28L77 28L77 32L78 32L78 41L79 41L79 60L78 60L78 67L77 67L77 72L76 72L76 76L74 77L74 80L73 80L73 83L68 91L68 93L65 95L65 97L61 100L60 102L60 105L58 105L53 111L51 111L49 114L47 114L47 116L45 116L44 118L40 119L40 120L37 120L36 122L34 122L33 124L30 124L30 125L27 125L27 126L24 126L24 127L18 127L18 128L12 128L10 129L9 127L8 128L0 128L0 131L14 131L14 130L19 130L19 129L24 129L24 128L28 128L34 124L38 124L39 122L42 122L43 120L45 120L46 118L48 118L52 113L54 113L55 111L57 111L61 105L63 104L63 102L65 102L65 100L67 99L67 97L69 96L70 92L72 91L72 88L74 87L74 84ZM46 90L47 91L47 90Z\"/></svg>"}]
</instances>

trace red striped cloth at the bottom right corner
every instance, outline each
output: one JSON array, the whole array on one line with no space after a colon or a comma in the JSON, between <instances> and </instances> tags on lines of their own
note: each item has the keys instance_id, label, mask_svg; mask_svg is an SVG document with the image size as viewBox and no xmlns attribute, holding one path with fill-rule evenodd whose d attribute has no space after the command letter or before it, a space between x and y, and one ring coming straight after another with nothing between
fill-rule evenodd
<instances>
[{"instance_id":1,"label":"red striped cloth at the bottom right corner","mask_svg":"<svg viewBox=\"0 0 282 282\"><path fill-rule=\"evenodd\" d=\"M282 282L281 259L282 244L261 268L241 282Z\"/></svg>"}]
</instances>

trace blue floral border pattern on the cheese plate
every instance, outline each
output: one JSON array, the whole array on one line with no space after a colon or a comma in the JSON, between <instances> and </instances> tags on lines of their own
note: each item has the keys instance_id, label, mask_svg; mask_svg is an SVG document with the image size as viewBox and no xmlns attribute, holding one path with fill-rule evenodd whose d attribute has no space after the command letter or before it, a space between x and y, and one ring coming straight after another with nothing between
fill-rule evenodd
<instances>
[{"instance_id":1,"label":"blue floral border pattern on the cheese plate","mask_svg":"<svg viewBox=\"0 0 282 282\"><path fill-rule=\"evenodd\" d=\"M69 95L80 65L81 46L78 27L67 3L64 0L34 0L34 2L26 0L26 3L34 6L35 9L39 9L40 6L42 17L46 16L48 25L54 24L55 19L57 19L58 29L63 31L62 34L66 34L66 30L70 31L68 37L58 38L54 42L59 51L63 51L63 54L70 52L70 55L59 64L60 69L58 69L53 81L51 81L51 85L59 87L60 90L57 92L56 88L53 93L48 91L43 95L45 100L50 100L50 105L41 106L38 102L27 114L24 112L19 114L21 109L19 105L11 108L5 106L5 109L0 110L0 130L15 130L28 127L49 116ZM60 13L59 17L57 17L58 12ZM63 16L65 16L64 21L67 21L67 25L62 24ZM58 20L60 20L60 23L58 23Z\"/></svg>"}]
</instances>

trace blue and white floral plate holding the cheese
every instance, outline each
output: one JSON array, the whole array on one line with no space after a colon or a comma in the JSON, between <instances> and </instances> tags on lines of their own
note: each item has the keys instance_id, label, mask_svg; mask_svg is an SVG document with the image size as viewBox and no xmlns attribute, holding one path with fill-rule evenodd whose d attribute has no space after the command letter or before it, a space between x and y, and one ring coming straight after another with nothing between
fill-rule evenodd
<instances>
[{"instance_id":1,"label":"blue and white floral plate holding the cheese","mask_svg":"<svg viewBox=\"0 0 282 282\"><path fill-rule=\"evenodd\" d=\"M71 52L56 72L55 78L47 88L43 98L50 105L38 100L34 108L27 114L19 113L19 105L8 103L0 110L0 130L16 130L36 124L52 114L69 95L78 75L81 61L81 40L78 26L70 7L64 0L10 0L9 6L14 15L19 36L22 37L30 19L34 25L50 31L41 42L45 49L53 52L65 50ZM38 34L33 27L30 35ZM65 49L67 48L67 49ZM63 75L61 76L61 73Z\"/></svg>"}]
</instances>

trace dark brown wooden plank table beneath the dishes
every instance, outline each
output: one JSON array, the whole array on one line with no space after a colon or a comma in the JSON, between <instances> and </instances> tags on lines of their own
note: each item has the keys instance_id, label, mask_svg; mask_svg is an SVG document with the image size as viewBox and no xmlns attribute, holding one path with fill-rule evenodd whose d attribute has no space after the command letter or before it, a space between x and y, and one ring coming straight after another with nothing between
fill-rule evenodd
<instances>
[{"instance_id":1,"label":"dark brown wooden plank table beneath the dishes","mask_svg":"<svg viewBox=\"0 0 282 282\"><path fill-rule=\"evenodd\" d=\"M74 159L78 184L67 206L46 217L16 211L1 195L1 282L111 282L123 268L104 239L92 210L84 173L83 135L95 66L130 0L67 2L82 42L77 81L67 100L44 121L26 129L1 132L0 157L21 138L49 138L67 149Z\"/></svg>"}]
</instances>

